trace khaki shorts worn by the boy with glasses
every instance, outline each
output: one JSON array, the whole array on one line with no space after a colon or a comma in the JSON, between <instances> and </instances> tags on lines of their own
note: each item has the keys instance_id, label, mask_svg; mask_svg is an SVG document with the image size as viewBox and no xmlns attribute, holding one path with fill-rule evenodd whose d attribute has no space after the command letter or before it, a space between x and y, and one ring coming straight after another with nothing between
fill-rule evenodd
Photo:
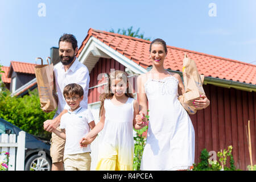
<instances>
[{"instance_id":1,"label":"khaki shorts worn by the boy with glasses","mask_svg":"<svg viewBox=\"0 0 256 182\"><path fill-rule=\"evenodd\" d=\"M90 152L64 155L65 171L90 171L91 160Z\"/></svg>"}]
</instances>

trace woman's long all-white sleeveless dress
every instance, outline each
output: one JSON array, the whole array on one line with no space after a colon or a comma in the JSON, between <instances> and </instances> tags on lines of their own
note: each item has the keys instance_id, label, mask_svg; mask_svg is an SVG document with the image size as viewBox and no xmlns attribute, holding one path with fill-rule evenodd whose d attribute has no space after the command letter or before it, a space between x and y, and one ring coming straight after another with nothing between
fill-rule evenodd
<instances>
[{"instance_id":1,"label":"woman's long all-white sleeveless dress","mask_svg":"<svg viewBox=\"0 0 256 182\"><path fill-rule=\"evenodd\" d=\"M193 166L195 131L187 111L177 99L179 81L174 76L148 79L148 133L141 170L177 170Z\"/></svg>"}]
</instances>

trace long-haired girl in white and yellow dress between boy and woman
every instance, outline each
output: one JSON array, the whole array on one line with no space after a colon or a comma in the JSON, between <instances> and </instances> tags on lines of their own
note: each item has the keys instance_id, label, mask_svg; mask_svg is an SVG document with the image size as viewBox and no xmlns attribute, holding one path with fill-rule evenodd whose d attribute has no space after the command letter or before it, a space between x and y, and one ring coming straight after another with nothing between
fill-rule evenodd
<instances>
[{"instance_id":1,"label":"long-haired girl in white and yellow dress between boy and woman","mask_svg":"<svg viewBox=\"0 0 256 182\"><path fill-rule=\"evenodd\" d=\"M110 73L107 90L100 96L100 122L80 141L82 147L90 144L91 138L103 129L96 170L133 170L133 127L142 129L146 126L146 119L137 118L135 121L139 104L129 91L125 72Z\"/></svg>"}]
</instances>

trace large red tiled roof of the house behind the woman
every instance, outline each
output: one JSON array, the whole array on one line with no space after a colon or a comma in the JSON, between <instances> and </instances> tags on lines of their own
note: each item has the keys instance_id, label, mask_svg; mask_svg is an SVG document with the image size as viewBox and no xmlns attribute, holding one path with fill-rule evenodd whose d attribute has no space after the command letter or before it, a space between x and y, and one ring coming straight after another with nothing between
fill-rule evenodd
<instances>
[{"instance_id":1,"label":"large red tiled roof of the house behind the woman","mask_svg":"<svg viewBox=\"0 0 256 182\"><path fill-rule=\"evenodd\" d=\"M94 36L94 38L97 38L115 51L133 60L143 68L152 65L148 53L150 41L114 34L112 32L94 30L92 28L89 29L88 35L82 42L77 52L77 57L91 36ZM196 61L200 74L226 80L246 82L247 84L256 84L256 65L254 64L172 46L167 46L167 49L168 53L164 61L164 68L166 69L182 72L184 53L186 53L189 58Z\"/></svg>"}]
</instances>

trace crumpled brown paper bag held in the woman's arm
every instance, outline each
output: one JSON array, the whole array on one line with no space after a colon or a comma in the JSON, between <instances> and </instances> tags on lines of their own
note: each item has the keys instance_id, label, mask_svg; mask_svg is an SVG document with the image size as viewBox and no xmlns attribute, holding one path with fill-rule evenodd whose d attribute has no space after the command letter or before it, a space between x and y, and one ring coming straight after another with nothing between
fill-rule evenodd
<instances>
[{"instance_id":1,"label":"crumpled brown paper bag held in the woman's arm","mask_svg":"<svg viewBox=\"0 0 256 182\"><path fill-rule=\"evenodd\" d=\"M179 101L189 114L195 114L197 108L193 105L193 100L199 100L205 94L203 88L204 75L199 75L196 63L184 55L183 59L183 81L185 93L179 96Z\"/></svg>"}]
</instances>

